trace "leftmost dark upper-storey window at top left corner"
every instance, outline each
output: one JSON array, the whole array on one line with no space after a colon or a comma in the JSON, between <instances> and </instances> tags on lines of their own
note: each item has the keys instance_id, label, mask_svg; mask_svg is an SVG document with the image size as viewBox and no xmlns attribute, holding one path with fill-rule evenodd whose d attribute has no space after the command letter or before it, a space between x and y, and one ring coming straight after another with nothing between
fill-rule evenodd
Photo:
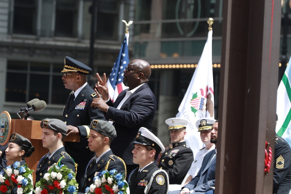
<instances>
[{"instance_id":1,"label":"leftmost dark upper-storey window at top left corner","mask_svg":"<svg viewBox=\"0 0 291 194\"><path fill-rule=\"evenodd\" d=\"M36 34L36 0L15 0L13 33Z\"/></svg>"}]
</instances>

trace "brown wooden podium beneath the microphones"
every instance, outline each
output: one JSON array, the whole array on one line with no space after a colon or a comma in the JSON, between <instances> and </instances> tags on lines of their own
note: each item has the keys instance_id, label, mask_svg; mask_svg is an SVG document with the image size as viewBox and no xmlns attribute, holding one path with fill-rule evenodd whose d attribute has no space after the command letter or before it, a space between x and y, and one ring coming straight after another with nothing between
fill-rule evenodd
<instances>
[{"instance_id":1,"label":"brown wooden podium beneath the microphones","mask_svg":"<svg viewBox=\"0 0 291 194\"><path fill-rule=\"evenodd\" d=\"M34 170L33 177L35 177L36 166L39 160L49 152L49 149L42 147L42 128L41 121L11 119L11 133L17 133L29 139L35 148L35 151L25 161L31 170ZM9 138L9 137L8 137ZM79 142L80 136L78 134L71 134L65 138L65 141ZM11 165L11 161L7 161L7 165ZM35 179L33 179L34 185Z\"/></svg>"}]
</instances>

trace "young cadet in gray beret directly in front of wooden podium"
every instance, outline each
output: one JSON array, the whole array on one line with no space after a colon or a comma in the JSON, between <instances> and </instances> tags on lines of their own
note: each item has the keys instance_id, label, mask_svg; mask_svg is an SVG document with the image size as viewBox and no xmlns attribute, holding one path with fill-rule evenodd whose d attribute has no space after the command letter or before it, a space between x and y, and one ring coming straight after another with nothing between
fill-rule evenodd
<instances>
[{"instance_id":1,"label":"young cadet in gray beret directly in front of wooden podium","mask_svg":"<svg viewBox=\"0 0 291 194\"><path fill-rule=\"evenodd\" d=\"M67 133L67 125L58 119L47 119L40 122L40 127L42 128L42 146L49 149L49 152L40 159L36 167L36 182L43 178L54 163L66 165L76 173L77 165L63 145Z\"/></svg>"}]
</instances>

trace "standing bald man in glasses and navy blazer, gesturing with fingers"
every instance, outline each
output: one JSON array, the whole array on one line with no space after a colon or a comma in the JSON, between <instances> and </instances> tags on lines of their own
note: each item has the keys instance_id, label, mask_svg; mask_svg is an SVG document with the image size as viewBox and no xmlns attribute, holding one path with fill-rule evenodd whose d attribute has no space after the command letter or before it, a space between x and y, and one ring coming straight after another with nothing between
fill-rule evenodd
<instances>
[{"instance_id":1,"label":"standing bald man in glasses and navy blazer, gesturing with fingers","mask_svg":"<svg viewBox=\"0 0 291 194\"><path fill-rule=\"evenodd\" d=\"M124 85L129 88L118 95L114 104L108 95L105 73L103 80L98 73L96 74L99 80L96 88L102 96L95 89L97 98L93 99L91 106L104 111L105 119L113 122L117 136L111 143L111 149L124 159L129 172L137 167L132 162L131 151L134 146L130 143L139 128L145 127L151 131L157 107L156 98L147 83L150 74L148 62L141 59L132 60L125 68L123 78Z\"/></svg>"}]
</instances>

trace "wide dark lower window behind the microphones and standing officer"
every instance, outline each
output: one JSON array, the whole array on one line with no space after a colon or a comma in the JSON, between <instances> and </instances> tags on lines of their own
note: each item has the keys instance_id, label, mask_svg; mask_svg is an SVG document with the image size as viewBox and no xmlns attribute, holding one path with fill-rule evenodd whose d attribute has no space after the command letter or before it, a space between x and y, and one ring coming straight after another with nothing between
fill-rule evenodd
<instances>
[{"instance_id":1,"label":"wide dark lower window behind the microphones and standing officer","mask_svg":"<svg viewBox=\"0 0 291 194\"><path fill-rule=\"evenodd\" d=\"M65 104L70 90L62 81L63 64L7 62L6 102L38 98L47 104Z\"/></svg>"}]
</instances>

